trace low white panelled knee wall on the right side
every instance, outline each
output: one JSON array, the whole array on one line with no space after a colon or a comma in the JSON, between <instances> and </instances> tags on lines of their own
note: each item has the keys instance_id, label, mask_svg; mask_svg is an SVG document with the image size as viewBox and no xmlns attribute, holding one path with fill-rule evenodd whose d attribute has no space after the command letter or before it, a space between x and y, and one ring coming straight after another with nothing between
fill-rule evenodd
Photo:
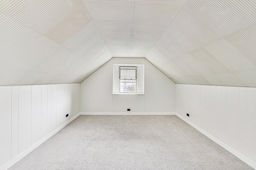
<instances>
[{"instance_id":1,"label":"low white panelled knee wall on the right side","mask_svg":"<svg viewBox=\"0 0 256 170\"><path fill-rule=\"evenodd\" d=\"M256 88L176 84L176 112L256 162Z\"/></svg>"}]
</instances>

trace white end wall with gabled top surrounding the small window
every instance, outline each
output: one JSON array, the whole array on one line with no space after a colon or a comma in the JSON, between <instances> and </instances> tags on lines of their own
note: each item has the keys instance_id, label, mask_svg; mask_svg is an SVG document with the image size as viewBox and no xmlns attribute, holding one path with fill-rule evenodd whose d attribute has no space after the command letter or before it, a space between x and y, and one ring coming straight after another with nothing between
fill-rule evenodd
<instances>
[{"instance_id":1,"label":"white end wall with gabled top surrounding the small window","mask_svg":"<svg viewBox=\"0 0 256 170\"><path fill-rule=\"evenodd\" d=\"M112 94L113 64L145 64L145 94ZM144 58L112 58L81 83L81 112L175 112L175 84Z\"/></svg>"}]
</instances>

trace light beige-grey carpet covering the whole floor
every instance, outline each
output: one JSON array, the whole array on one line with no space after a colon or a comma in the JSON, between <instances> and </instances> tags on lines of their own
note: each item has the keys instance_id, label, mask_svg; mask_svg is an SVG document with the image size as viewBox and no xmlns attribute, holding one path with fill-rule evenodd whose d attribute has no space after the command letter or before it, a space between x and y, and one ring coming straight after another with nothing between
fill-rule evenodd
<instances>
[{"instance_id":1,"label":"light beige-grey carpet covering the whole floor","mask_svg":"<svg viewBox=\"0 0 256 170\"><path fill-rule=\"evenodd\" d=\"M17 169L253 170L176 115L80 115Z\"/></svg>"}]
</instances>

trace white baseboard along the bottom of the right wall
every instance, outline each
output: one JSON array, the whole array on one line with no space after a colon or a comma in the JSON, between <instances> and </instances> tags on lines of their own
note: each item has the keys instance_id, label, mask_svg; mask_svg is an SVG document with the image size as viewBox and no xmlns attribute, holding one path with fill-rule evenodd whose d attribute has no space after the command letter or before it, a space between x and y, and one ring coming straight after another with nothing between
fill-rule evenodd
<instances>
[{"instance_id":1,"label":"white baseboard along the bottom of the right wall","mask_svg":"<svg viewBox=\"0 0 256 170\"><path fill-rule=\"evenodd\" d=\"M244 155L240 154L239 152L237 152L236 150L232 149L231 147L229 147L228 145L226 145L225 143L223 143L222 141L220 141L219 139L217 139L216 137L210 135L210 133L207 133L206 131L204 131L203 129L201 129L200 127L198 127L197 125L195 125L194 123L188 121L188 119L182 117L181 115L179 115L178 113L176 113L176 116L178 116L180 119L182 119L183 121L185 121L186 123L188 123L190 126L194 127L196 130L198 130L199 132L201 132L203 135L205 135L206 137L208 137L209 139L211 139L212 141L214 141L215 143L217 143L218 145L220 145L222 148L228 150L228 152L232 153L234 156L238 157L240 160L244 161L246 164L248 164L249 166L251 166L252 168L256 169L256 163L253 162L252 160L246 158Z\"/></svg>"}]
</instances>

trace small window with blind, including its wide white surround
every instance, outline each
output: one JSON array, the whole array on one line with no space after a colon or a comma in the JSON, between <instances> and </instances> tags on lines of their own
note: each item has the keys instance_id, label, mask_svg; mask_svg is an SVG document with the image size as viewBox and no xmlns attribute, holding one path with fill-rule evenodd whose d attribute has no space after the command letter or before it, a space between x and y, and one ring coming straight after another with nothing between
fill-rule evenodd
<instances>
[{"instance_id":1,"label":"small window with blind, including its wide white surround","mask_svg":"<svg viewBox=\"0 0 256 170\"><path fill-rule=\"evenodd\" d=\"M144 65L113 65L113 94L144 94Z\"/></svg>"}]
</instances>

